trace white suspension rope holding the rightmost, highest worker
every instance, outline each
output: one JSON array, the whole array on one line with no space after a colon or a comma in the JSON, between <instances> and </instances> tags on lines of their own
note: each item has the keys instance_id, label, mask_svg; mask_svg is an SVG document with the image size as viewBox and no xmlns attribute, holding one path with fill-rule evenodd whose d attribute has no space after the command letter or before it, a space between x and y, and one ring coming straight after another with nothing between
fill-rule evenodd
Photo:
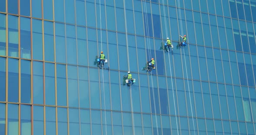
<instances>
[{"instance_id":1,"label":"white suspension rope holding the rightmost, highest worker","mask_svg":"<svg viewBox=\"0 0 256 135\"><path fill-rule=\"evenodd\" d=\"M182 20L181 20L181 6L180 6L180 0L178 1L178 9L179 9L179 16L180 16L180 24L181 24L181 35L183 35L183 25L182 25ZM186 56L185 56L185 50L183 47L183 54L184 54L184 60L185 60L185 67L186 67L186 75L187 75L187 62L186 62ZM190 100L190 109L191 109L191 113L192 113L192 121L193 121L193 128L194 128L194 135L196 135L195 132L195 125L194 125L194 116L193 116L193 110L192 110L192 103L191 103L191 97L190 97L190 88L189 88L189 83L188 83L188 75L187 75L187 87L188 87L188 93L189 93L189 100Z\"/></svg>"}]
</instances>

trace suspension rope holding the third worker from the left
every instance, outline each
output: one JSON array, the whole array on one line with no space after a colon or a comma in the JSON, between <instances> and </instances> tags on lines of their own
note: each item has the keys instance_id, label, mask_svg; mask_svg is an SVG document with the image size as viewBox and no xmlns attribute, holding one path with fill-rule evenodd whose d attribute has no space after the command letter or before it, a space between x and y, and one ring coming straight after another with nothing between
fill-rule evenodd
<instances>
[{"instance_id":1,"label":"suspension rope holding the third worker from the left","mask_svg":"<svg viewBox=\"0 0 256 135\"><path fill-rule=\"evenodd\" d=\"M148 27L148 14L146 13L146 11L147 11L147 5L146 5L146 2L145 2L145 0L143 0L143 2L144 2L144 13L145 13L145 20L146 20L146 22L147 22L147 24L146 24L146 28L149 28ZM146 10L146 11L145 11ZM148 37L147 37L147 39L148 39L148 48L149 48L149 56L150 56L150 59L152 58L151 57L151 46L150 46L150 39L149 39L149 29L147 29L147 35L148 35ZM154 96L154 84L153 84L153 77L152 77L152 71L151 71L151 86L152 86L152 92L153 92L153 101L154 101L154 113L155 113L155 121L156 121L156 126L157 126L157 134L158 134L158 119L157 119L157 113L156 113L156 105L155 105L155 96Z\"/></svg>"}]
</instances>

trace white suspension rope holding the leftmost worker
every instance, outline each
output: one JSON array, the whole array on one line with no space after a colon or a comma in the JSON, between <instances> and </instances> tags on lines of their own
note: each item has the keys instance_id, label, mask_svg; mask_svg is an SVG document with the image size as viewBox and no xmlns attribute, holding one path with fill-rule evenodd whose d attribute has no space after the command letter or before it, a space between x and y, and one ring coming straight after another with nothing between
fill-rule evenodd
<instances>
[{"instance_id":1,"label":"white suspension rope holding the leftmost worker","mask_svg":"<svg viewBox=\"0 0 256 135\"><path fill-rule=\"evenodd\" d=\"M100 35L101 35L101 49L102 49L102 11L101 11L101 0L99 0L99 14L100 14ZM104 62L104 61L102 61ZM102 84L103 84L103 95L104 95L104 113L105 113L105 133L108 135L107 131L107 116L106 116L106 101L105 101L105 86L104 86L104 70L102 67Z\"/></svg>"}]
</instances>

